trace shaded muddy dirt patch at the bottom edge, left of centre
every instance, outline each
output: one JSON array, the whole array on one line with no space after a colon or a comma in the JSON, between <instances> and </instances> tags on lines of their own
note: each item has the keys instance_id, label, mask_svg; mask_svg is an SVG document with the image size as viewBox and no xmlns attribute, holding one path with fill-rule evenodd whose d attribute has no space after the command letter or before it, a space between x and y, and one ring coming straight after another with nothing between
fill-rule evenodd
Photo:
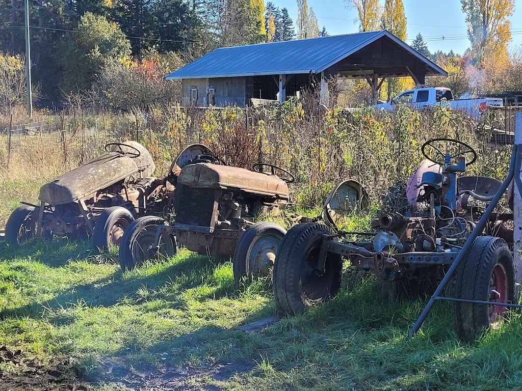
<instances>
[{"instance_id":1,"label":"shaded muddy dirt patch at the bottom edge, left of centre","mask_svg":"<svg viewBox=\"0 0 522 391\"><path fill-rule=\"evenodd\" d=\"M137 366L118 358L105 361L97 378L90 380L122 391L219 391L223 388L212 383L226 381L236 373L250 370L252 364L246 362L181 367L168 363Z\"/></svg>"}]
</instances>

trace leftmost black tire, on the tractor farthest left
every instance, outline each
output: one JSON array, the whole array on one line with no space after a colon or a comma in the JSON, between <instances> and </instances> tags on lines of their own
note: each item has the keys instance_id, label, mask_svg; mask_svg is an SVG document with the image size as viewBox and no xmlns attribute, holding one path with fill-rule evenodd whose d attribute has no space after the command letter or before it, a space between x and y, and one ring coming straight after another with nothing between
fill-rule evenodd
<instances>
[{"instance_id":1,"label":"leftmost black tire, on the tractor farthest left","mask_svg":"<svg viewBox=\"0 0 522 391\"><path fill-rule=\"evenodd\" d=\"M36 219L38 218L34 211L33 206L21 205L11 213L5 225L5 242L7 245L19 246L34 239Z\"/></svg>"}]
</instances>

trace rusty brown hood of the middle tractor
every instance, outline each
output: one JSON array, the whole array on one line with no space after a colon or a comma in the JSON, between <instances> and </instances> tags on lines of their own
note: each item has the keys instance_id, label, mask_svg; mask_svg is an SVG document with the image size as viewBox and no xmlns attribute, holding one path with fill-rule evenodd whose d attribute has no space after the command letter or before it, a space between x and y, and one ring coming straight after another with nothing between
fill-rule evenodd
<instances>
[{"instance_id":1,"label":"rusty brown hood of the middle tractor","mask_svg":"<svg viewBox=\"0 0 522 391\"><path fill-rule=\"evenodd\" d=\"M289 199L288 186L282 179L238 167L210 163L189 164L182 168L177 182L193 188L239 189L247 193Z\"/></svg>"}]
</instances>

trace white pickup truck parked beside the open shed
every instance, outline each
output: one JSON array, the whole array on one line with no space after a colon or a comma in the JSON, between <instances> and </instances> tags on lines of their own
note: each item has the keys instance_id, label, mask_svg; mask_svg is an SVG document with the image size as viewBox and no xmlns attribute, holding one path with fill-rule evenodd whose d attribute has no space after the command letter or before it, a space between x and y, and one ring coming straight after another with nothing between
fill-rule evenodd
<instances>
[{"instance_id":1,"label":"white pickup truck parked beside the open shed","mask_svg":"<svg viewBox=\"0 0 522 391\"><path fill-rule=\"evenodd\" d=\"M418 88L401 92L390 102L374 105L377 110L394 110L397 104L406 104L422 109L426 106L444 104L452 109L465 111L470 117L479 118L489 107L502 107L502 98L453 99L452 90L445 87Z\"/></svg>"}]
</instances>

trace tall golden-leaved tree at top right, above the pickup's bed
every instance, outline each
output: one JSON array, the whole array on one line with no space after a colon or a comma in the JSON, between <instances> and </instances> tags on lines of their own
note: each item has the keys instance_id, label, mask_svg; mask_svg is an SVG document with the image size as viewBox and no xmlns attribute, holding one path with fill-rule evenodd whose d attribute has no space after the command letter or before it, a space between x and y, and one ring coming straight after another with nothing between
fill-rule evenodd
<instances>
[{"instance_id":1,"label":"tall golden-leaved tree at top right, above the pickup's bed","mask_svg":"<svg viewBox=\"0 0 522 391\"><path fill-rule=\"evenodd\" d=\"M511 41L509 18L515 10L515 0L461 0L466 14L468 36L473 58L480 65L487 57L507 60L507 45Z\"/></svg>"}]
</instances>

